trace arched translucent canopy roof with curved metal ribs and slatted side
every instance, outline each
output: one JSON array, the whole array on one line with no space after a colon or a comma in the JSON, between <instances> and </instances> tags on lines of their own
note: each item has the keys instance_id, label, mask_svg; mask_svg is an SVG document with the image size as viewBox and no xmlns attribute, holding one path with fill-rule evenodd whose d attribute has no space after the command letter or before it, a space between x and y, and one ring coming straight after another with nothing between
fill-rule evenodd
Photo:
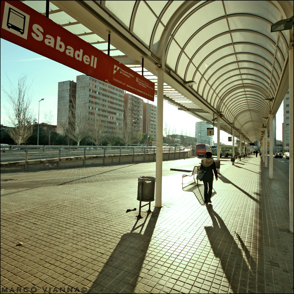
<instances>
[{"instance_id":1,"label":"arched translucent canopy roof with curved metal ribs and slatted side","mask_svg":"<svg viewBox=\"0 0 294 294\"><path fill-rule=\"evenodd\" d=\"M43 14L45 2L24 1ZM169 103L210 123L221 113L221 129L250 141L288 91L293 28L270 26L293 15L293 1L50 2L53 21L106 53L110 31L110 55L133 70L144 57L146 78L157 83L162 67Z\"/></svg>"}]
</instances>

